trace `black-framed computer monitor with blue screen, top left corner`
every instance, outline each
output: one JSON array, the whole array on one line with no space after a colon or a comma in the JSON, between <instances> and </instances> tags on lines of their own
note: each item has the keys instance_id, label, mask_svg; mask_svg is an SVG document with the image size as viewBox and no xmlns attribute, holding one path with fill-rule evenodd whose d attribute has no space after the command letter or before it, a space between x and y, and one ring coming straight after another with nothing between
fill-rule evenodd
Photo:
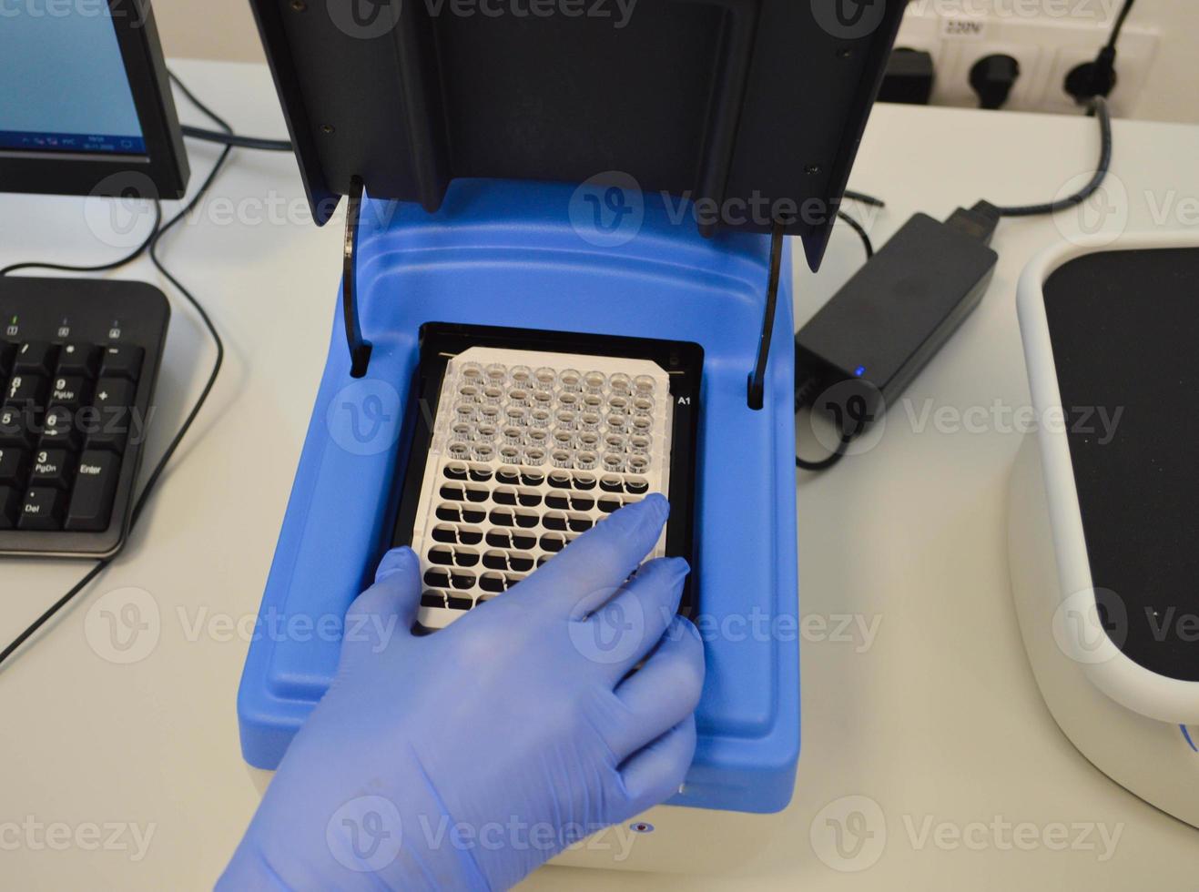
<instances>
[{"instance_id":1,"label":"black-framed computer monitor with blue screen, top left corner","mask_svg":"<svg viewBox=\"0 0 1199 892\"><path fill-rule=\"evenodd\" d=\"M147 0L0 8L0 192L181 198L187 156Z\"/></svg>"}]
</instances>

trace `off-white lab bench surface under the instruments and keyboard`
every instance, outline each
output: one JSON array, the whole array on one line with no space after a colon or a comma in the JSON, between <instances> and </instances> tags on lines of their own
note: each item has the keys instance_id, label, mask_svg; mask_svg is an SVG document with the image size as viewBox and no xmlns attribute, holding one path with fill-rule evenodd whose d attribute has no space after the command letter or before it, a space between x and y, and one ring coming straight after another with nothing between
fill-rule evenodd
<instances>
[{"instance_id":1,"label":"off-white lab bench surface under the instruments and keyboard","mask_svg":"<svg viewBox=\"0 0 1199 892\"><path fill-rule=\"evenodd\" d=\"M265 67L181 61L176 70L239 132L284 132ZM185 120L203 122L181 108ZM188 150L194 189L216 149L189 140ZM870 223L881 243L915 211L944 218L978 198L1052 198L1096 155L1095 122L1081 116L880 106L852 186L886 199ZM1116 122L1110 188L1127 199L1129 230L1199 227L1197 158L1199 127ZM245 631L287 505L339 276L341 230L305 222L305 206L290 157L237 151L205 210L163 243L171 270L211 308L229 355L123 554L0 670L6 887L201 888L254 809L259 794L239 752L235 710ZM118 253L91 234L80 199L2 195L0 207L0 265ZM1123 219L1117 206L1104 222ZM803 747L785 813L729 815L753 821L753 854L727 875L547 868L525 888L1194 884L1199 831L1115 786L1055 727L1008 591L1006 492L1019 444L1011 421L1029 405L1016 279L1040 248L1078 225L1076 213L1005 221L983 303L892 408L879 442L800 481ZM861 259L856 236L838 227L824 270L796 275L797 320ZM158 283L175 309L152 459L203 385L211 345L149 261L119 275ZM819 454L806 426L800 436L805 453ZM0 639L86 566L0 561ZM158 631L144 658L118 664L97 653L103 647L92 646L85 625L100 597L125 586L152 595ZM856 857L838 861L826 843L813 846L813 825L831 826L830 816L852 819L842 854ZM66 837L48 840L37 830L48 825ZM116 840L125 850L102 844L109 825L126 827ZM152 832L144 851L129 825L143 842ZM1103 833L1109 842L1119 834L1114 850Z\"/></svg>"}]
</instances>

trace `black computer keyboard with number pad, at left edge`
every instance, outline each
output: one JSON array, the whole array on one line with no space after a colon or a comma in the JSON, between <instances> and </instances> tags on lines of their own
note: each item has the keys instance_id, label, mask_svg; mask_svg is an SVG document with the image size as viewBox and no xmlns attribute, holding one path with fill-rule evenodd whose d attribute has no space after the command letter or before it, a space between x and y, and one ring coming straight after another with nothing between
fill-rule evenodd
<instances>
[{"instance_id":1,"label":"black computer keyboard with number pad, at left edge","mask_svg":"<svg viewBox=\"0 0 1199 892\"><path fill-rule=\"evenodd\" d=\"M169 319L143 282L0 277L0 555L120 549Z\"/></svg>"}]
</instances>

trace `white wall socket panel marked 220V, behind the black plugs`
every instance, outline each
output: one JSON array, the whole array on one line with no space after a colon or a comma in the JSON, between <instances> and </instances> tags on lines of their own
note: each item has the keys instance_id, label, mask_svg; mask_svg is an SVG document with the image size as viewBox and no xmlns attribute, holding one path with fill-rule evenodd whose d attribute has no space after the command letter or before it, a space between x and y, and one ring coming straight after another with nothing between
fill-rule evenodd
<instances>
[{"instance_id":1,"label":"white wall socket panel marked 220V, behind the black plugs","mask_svg":"<svg viewBox=\"0 0 1199 892\"><path fill-rule=\"evenodd\" d=\"M1007 55L1020 76L1005 109L1019 112L1077 110L1066 94L1066 76L1080 62L1095 59L1108 40L1111 23L1098 17L1055 18L1047 14L958 12L956 4L916 0L908 7L897 47L923 49L933 56L935 76L932 102L936 106L977 107L970 72L982 59ZM1115 115L1132 112L1145 86L1157 52L1156 31L1125 26L1116 58L1117 85L1110 98Z\"/></svg>"}]
</instances>

